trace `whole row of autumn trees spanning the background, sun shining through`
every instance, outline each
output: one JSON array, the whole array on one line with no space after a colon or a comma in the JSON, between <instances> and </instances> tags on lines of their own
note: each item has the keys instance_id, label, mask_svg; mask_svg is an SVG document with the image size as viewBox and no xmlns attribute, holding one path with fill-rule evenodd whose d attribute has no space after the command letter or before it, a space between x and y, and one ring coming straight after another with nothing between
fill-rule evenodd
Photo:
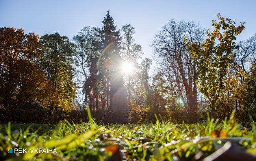
<instances>
[{"instance_id":1,"label":"whole row of autumn trees spanning the background, sun shining through","mask_svg":"<svg viewBox=\"0 0 256 161\"><path fill-rule=\"evenodd\" d=\"M88 106L97 113L125 105L141 118L142 112L224 117L235 109L255 120L256 35L236 43L245 22L217 18L213 31L169 20L150 44L152 59L141 58L135 27L117 29L109 11L101 28L83 27L72 40L2 27L0 108L46 109L52 123L58 111ZM153 60L158 67L152 75Z\"/></svg>"}]
</instances>

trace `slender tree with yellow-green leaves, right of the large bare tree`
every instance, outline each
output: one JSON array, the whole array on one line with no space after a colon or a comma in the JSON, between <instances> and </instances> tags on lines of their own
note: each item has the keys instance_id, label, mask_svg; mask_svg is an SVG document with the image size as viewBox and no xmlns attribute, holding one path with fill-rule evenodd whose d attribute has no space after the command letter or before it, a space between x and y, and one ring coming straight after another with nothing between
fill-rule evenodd
<instances>
[{"instance_id":1,"label":"slender tree with yellow-green leaves, right of the large bare tree","mask_svg":"<svg viewBox=\"0 0 256 161\"><path fill-rule=\"evenodd\" d=\"M208 30L205 42L198 44L186 43L194 59L198 60L198 90L211 102L211 117L215 117L215 102L224 86L227 69L234 58L234 49L238 49L234 40L244 30L245 22L235 26L229 18L217 15L219 22L212 20L214 30Z\"/></svg>"}]
</instances>

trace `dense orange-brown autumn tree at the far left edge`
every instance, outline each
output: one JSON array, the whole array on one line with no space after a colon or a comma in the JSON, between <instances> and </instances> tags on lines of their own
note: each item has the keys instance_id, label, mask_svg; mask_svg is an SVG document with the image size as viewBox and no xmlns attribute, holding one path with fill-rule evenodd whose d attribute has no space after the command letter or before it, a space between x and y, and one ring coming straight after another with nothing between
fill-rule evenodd
<instances>
[{"instance_id":1,"label":"dense orange-brown autumn tree at the far left edge","mask_svg":"<svg viewBox=\"0 0 256 161\"><path fill-rule=\"evenodd\" d=\"M0 28L0 106L6 110L24 103L42 103L44 72L39 36L24 34L23 29Z\"/></svg>"}]
</instances>

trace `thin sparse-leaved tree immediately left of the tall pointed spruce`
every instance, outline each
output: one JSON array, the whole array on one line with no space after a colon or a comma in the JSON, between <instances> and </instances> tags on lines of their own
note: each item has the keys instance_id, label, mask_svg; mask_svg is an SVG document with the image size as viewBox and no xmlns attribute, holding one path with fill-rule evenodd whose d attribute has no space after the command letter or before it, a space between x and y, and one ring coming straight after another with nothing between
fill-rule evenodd
<instances>
[{"instance_id":1,"label":"thin sparse-leaved tree immediately left of the tall pointed spruce","mask_svg":"<svg viewBox=\"0 0 256 161\"><path fill-rule=\"evenodd\" d=\"M100 53L95 48L94 43L100 41L96 32L98 29L91 27L83 27L82 31L75 35L73 41L76 44L75 62L79 68L77 71L81 73L85 82L83 84L83 92L89 98L89 108L93 110L96 99L96 109L98 109L98 94L100 92L98 82L101 80L99 71L101 66L97 66Z\"/></svg>"}]
</instances>

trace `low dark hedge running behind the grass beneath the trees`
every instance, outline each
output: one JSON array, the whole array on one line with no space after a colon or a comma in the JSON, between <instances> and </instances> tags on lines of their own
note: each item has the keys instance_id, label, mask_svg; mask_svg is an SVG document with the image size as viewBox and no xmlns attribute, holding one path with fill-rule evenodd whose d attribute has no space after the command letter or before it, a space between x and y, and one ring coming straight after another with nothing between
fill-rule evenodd
<instances>
[{"instance_id":1,"label":"low dark hedge running behind the grass beneath the trees","mask_svg":"<svg viewBox=\"0 0 256 161\"><path fill-rule=\"evenodd\" d=\"M206 120L206 112L185 112L183 110L177 111L154 111L150 108L133 108L128 113L111 112L108 110L92 111L91 115L96 123L108 124L108 123L151 123L156 122L156 116L162 121L170 121L173 123L198 123L199 121ZM237 113L241 115L239 120L248 120L248 115L245 112ZM127 121L125 122L125 117ZM255 118L255 116L254 116ZM0 123L50 123L48 121L48 110L36 104L25 104L18 109L12 111L0 111ZM70 112L58 110L56 113L56 123L63 122L80 123L88 122L87 111L71 110ZM244 121L243 121L244 122Z\"/></svg>"}]
</instances>

